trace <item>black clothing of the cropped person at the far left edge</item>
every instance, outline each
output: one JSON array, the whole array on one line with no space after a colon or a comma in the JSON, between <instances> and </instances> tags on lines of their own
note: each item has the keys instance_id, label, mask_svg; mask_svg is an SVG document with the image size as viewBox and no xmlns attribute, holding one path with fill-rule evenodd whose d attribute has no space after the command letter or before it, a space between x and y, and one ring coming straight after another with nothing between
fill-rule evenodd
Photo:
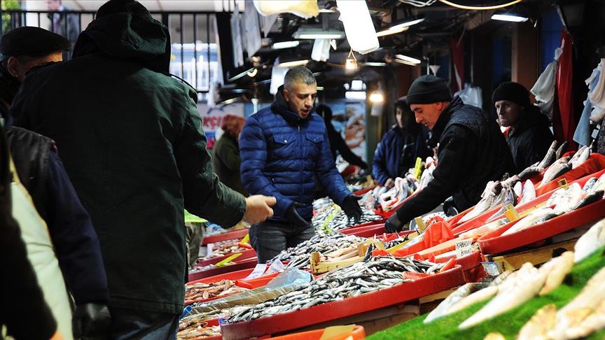
<instances>
[{"instance_id":1,"label":"black clothing of the cropped person at the far left edge","mask_svg":"<svg viewBox=\"0 0 605 340\"><path fill-rule=\"evenodd\" d=\"M3 127L0 125L0 130ZM8 148L0 131L0 324L15 339L50 339L57 330L44 301L19 225L11 213ZM35 320L35 325L32 325Z\"/></svg>"}]
</instances>

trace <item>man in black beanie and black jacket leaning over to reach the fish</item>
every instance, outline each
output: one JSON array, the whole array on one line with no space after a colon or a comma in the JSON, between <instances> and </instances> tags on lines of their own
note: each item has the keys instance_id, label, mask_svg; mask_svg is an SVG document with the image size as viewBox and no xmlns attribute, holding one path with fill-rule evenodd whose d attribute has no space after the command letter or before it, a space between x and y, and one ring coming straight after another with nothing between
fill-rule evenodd
<instances>
[{"instance_id":1,"label":"man in black beanie and black jacket leaning over to reach the fish","mask_svg":"<svg viewBox=\"0 0 605 340\"><path fill-rule=\"evenodd\" d=\"M464 211L477 204L489 180L514 171L496 122L482 109L465 105L460 97L452 99L445 80L432 75L417 78L407 101L416 121L431 129L438 141L438 165L429 185L387 220L388 232L401 230L450 196L458 211Z\"/></svg>"}]
</instances>

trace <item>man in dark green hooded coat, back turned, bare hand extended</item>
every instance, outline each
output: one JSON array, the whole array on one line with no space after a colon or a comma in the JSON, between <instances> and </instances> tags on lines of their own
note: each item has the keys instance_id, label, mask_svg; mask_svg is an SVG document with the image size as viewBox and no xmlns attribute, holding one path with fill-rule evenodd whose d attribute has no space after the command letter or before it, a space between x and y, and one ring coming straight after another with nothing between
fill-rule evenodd
<instances>
[{"instance_id":1,"label":"man in dark green hooded coat, back turned, bare hand extended","mask_svg":"<svg viewBox=\"0 0 605 340\"><path fill-rule=\"evenodd\" d=\"M99 236L114 339L174 338L186 271L183 208L219 225L257 223L272 197L212 171L197 93L167 76L169 31L133 0L99 8L74 59L30 71L15 125L49 136Z\"/></svg>"}]
</instances>

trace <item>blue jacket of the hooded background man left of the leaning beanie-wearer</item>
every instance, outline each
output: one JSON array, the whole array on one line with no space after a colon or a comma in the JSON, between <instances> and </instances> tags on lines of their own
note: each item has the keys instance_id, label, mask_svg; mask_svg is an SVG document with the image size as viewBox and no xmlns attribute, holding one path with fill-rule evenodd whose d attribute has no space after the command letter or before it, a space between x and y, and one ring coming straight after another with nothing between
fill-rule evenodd
<instances>
[{"instance_id":1,"label":"blue jacket of the hooded background man left of the leaning beanie-wearer","mask_svg":"<svg viewBox=\"0 0 605 340\"><path fill-rule=\"evenodd\" d=\"M372 176L378 183L384 185L389 178L401 177L404 171L414 167L417 157L424 160L431 155L426 146L426 131L424 128L417 131L403 132L395 126L382 137L372 162Z\"/></svg>"}]
</instances>

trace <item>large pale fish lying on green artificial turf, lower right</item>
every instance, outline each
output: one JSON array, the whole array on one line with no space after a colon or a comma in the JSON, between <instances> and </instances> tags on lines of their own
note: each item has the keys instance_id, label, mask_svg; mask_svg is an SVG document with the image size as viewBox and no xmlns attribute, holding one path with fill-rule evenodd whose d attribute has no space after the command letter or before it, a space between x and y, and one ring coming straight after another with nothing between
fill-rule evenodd
<instances>
[{"instance_id":1,"label":"large pale fish lying on green artificial turf, lower right","mask_svg":"<svg viewBox=\"0 0 605 340\"><path fill-rule=\"evenodd\" d=\"M485 306L464 320L464 330L514 309L538 295L546 295L559 287L573 267L602 246L605 246L605 219L594 223L578 239L574 252L536 268L527 262L517 271L505 271L493 281L466 283L452 292L424 319L433 323L468 306L489 300ZM595 274L580 294L558 312L552 304L537 311L520 330L517 339L576 339L605 327L605 268Z\"/></svg>"}]
</instances>

